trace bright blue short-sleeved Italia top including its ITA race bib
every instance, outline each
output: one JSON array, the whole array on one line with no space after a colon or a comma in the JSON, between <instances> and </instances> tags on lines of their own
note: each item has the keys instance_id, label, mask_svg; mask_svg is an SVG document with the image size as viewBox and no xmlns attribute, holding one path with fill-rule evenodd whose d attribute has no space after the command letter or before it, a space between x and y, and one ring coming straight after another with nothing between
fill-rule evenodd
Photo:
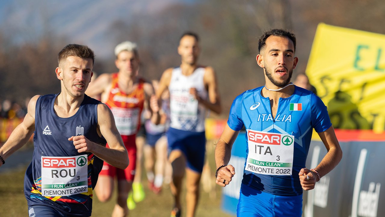
<instances>
[{"instance_id":1,"label":"bright blue short-sleeved Italia top including its ITA race bib","mask_svg":"<svg viewBox=\"0 0 385 217\"><path fill-rule=\"evenodd\" d=\"M301 195L298 173L305 168L313 128L331 126L325 104L314 93L295 86L280 98L276 117L259 87L247 90L231 105L228 125L246 128L246 163L242 183L273 195Z\"/></svg>"}]
</instances>

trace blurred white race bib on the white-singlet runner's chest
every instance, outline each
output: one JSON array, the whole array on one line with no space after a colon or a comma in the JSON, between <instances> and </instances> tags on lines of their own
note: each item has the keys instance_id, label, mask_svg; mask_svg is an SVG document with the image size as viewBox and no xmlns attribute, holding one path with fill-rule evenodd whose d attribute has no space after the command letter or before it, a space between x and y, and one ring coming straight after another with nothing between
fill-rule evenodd
<instances>
[{"instance_id":1,"label":"blurred white race bib on the white-singlet runner's chest","mask_svg":"<svg viewBox=\"0 0 385 217\"><path fill-rule=\"evenodd\" d=\"M196 120L198 114L198 100L191 94L172 93L170 96L170 110L172 116Z\"/></svg>"}]
</instances>

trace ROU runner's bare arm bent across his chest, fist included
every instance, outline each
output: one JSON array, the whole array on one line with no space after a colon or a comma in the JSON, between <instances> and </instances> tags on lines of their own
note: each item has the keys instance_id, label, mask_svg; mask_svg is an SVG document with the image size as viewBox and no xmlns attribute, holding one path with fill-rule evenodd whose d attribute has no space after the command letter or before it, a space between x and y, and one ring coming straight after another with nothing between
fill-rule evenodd
<instances>
[{"instance_id":1,"label":"ROU runner's bare arm bent across his chest, fist included","mask_svg":"<svg viewBox=\"0 0 385 217\"><path fill-rule=\"evenodd\" d=\"M110 148L89 141L85 136L72 136L68 140L74 141L79 153L91 152L111 166L126 169L129 164L127 150L122 137L115 126L114 116L107 105L100 103L97 107L98 129Z\"/></svg>"}]
</instances>

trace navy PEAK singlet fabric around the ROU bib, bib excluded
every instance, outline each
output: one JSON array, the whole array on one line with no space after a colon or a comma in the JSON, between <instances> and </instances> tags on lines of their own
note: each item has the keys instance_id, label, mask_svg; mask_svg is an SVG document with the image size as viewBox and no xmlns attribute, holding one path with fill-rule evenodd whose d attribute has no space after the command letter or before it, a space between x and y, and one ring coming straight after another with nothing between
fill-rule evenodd
<instances>
[{"instance_id":1,"label":"navy PEAK singlet fabric around the ROU bib, bib excluded","mask_svg":"<svg viewBox=\"0 0 385 217\"><path fill-rule=\"evenodd\" d=\"M68 141L68 138L84 135L90 141L105 146L105 139L97 134L97 105L100 102L84 95L84 100L76 114L61 118L54 112L57 95L41 96L36 102L34 151L32 162L24 178L25 197L28 206L45 205L70 216L90 216L92 190L96 185L103 161L92 153L78 153L73 142ZM84 154L87 155L88 171L87 180L83 183L88 185L88 192L61 197L42 196L42 156L70 157ZM64 172L60 175L65 175Z\"/></svg>"}]
</instances>

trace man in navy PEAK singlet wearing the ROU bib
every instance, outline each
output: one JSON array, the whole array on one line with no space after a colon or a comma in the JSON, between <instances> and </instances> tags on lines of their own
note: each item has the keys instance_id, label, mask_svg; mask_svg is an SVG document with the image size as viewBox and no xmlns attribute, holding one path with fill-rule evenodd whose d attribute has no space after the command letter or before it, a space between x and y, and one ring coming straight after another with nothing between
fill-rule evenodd
<instances>
[{"instance_id":1,"label":"man in navy PEAK singlet wearing the ROU bib","mask_svg":"<svg viewBox=\"0 0 385 217\"><path fill-rule=\"evenodd\" d=\"M23 122L0 148L0 166L34 133L33 159L24 178L29 216L87 217L103 161L124 169L129 159L110 109L84 94L94 52L69 44L58 62L61 92L30 100Z\"/></svg>"}]
</instances>

